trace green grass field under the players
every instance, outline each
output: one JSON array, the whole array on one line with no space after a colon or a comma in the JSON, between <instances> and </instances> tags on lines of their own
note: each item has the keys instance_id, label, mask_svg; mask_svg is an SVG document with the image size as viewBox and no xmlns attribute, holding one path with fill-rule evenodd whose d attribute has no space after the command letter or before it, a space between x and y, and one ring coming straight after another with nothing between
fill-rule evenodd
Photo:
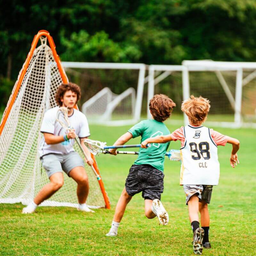
<instances>
[{"instance_id":1,"label":"green grass field under the players","mask_svg":"<svg viewBox=\"0 0 256 256\"><path fill-rule=\"evenodd\" d=\"M111 145L128 130L123 127L90 126L91 138ZM178 126L170 125L170 131ZM219 147L220 184L213 188L209 205L212 249L204 255L256 255L256 131L217 129L238 138L240 165L229 165L231 145ZM139 143L139 139L132 140ZM179 148L172 142L170 148ZM135 156L100 155L97 158L112 209L82 213L68 207L39 207L22 215L21 204L0 204L0 255L194 255L192 231L179 186L180 165L165 161L162 202L169 212L167 226L144 216L144 202L136 195L130 202L117 237L106 237L115 205Z\"/></svg>"}]
</instances>

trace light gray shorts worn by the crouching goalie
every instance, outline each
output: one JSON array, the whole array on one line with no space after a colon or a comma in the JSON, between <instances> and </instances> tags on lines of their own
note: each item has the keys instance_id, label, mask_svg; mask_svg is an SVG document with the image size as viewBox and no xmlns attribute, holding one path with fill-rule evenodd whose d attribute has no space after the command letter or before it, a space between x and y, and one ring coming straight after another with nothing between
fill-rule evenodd
<instances>
[{"instance_id":1,"label":"light gray shorts worn by the crouching goalie","mask_svg":"<svg viewBox=\"0 0 256 256\"><path fill-rule=\"evenodd\" d=\"M47 154L41 157L42 165L48 178L56 172L66 172L67 174L77 166L84 167L84 161L77 152L68 154Z\"/></svg>"}]
</instances>

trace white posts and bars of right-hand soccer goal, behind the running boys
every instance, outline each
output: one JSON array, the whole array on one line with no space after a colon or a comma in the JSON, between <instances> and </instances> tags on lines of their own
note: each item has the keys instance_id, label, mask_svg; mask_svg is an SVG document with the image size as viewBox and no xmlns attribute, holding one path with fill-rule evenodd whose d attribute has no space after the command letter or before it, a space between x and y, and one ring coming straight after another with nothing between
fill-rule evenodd
<instances>
[{"instance_id":1,"label":"white posts and bars of right-hand soccer goal, behind the running boys","mask_svg":"<svg viewBox=\"0 0 256 256\"><path fill-rule=\"evenodd\" d=\"M148 103L154 96L154 87L161 82L164 78L171 75L173 71L182 72L182 95L183 100L186 100L190 96L189 85L189 71L214 71L216 76L227 95L227 98L234 108L234 122L207 122L212 126L220 127L252 127L256 128L254 123L243 123L241 115L242 107L242 92L243 86L248 84L252 79L256 77L256 71L253 71L250 75L243 79L243 69L256 70L256 62L225 62L225 61L212 61L212 60L183 60L182 65L150 65L148 75ZM221 71L236 71L236 91L235 99L228 89L225 79L221 75ZM155 77L156 71L164 71L159 76ZM148 118L150 118L150 112L148 110ZM184 124L188 124L188 118L184 114Z\"/></svg>"}]
</instances>

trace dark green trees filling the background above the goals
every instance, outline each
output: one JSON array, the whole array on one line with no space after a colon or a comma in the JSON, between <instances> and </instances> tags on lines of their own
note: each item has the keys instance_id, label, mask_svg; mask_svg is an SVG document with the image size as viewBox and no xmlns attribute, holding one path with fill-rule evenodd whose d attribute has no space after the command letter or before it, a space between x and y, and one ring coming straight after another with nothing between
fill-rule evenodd
<instances>
[{"instance_id":1,"label":"dark green trees filling the background above the goals","mask_svg":"<svg viewBox=\"0 0 256 256\"><path fill-rule=\"evenodd\" d=\"M254 0L1 0L0 107L34 35L50 32L63 61L181 64L255 61Z\"/></svg>"}]
</instances>

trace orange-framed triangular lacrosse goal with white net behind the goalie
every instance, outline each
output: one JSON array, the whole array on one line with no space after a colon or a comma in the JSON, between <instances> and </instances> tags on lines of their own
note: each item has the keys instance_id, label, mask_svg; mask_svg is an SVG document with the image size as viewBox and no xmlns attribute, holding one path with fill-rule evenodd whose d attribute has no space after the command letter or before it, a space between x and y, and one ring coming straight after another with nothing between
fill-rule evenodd
<instances>
[{"instance_id":1,"label":"orange-framed triangular lacrosse goal with white net behind the goalie","mask_svg":"<svg viewBox=\"0 0 256 256\"><path fill-rule=\"evenodd\" d=\"M47 45L48 44L50 46ZM39 42L39 44L38 44ZM50 34L40 30L12 90L0 125L0 203L30 203L49 179L38 148L44 113L56 106L55 92L68 82ZM78 146L75 150L83 158ZM94 168L99 173L96 162ZM110 208L102 180L85 164L90 181L87 204ZM76 182L64 175L64 185L42 206L77 207Z\"/></svg>"}]
</instances>

